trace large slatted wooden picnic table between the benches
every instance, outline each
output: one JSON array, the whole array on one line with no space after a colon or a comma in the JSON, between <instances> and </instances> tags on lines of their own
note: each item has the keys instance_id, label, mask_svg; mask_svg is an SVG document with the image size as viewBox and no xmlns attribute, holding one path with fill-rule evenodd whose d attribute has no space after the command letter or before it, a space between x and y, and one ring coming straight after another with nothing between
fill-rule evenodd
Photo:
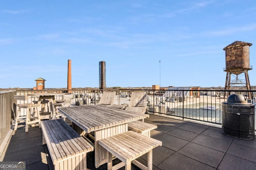
<instances>
[{"instance_id":1,"label":"large slatted wooden picnic table between the benches","mask_svg":"<svg viewBox=\"0 0 256 170\"><path fill-rule=\"evenodd\" d=\"M100 139L124 133L128 131L128 122L148 117L146 114L100 105L62 107L59 111L82 130L94 132L96 168L107 162L107 151L98 144Z\"/></svg>"}]
</instances>

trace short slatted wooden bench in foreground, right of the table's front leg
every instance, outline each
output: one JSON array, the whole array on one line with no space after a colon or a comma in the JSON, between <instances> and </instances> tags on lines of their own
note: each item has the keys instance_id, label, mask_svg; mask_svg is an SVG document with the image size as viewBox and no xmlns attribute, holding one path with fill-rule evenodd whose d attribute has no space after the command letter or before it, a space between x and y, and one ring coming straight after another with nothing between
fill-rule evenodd
<instances>
[{"instance_id":1,"label":"short slatted wooden bench in foreground, right of the table's front leg","mask_svg":"<svg viewBox=\"0 0 256 170\"><path fill-rule=\"evenodd\" d=\"M162 146L161 141L146 137L134 131L101 139L98 143L108 151L108 170L117 170L123 166L125 166L126 170L130 170L131 163L142 170L152 170L152 149ZM148 167L135 160L145 153L148 153ZM112 166L112 155L116 156L122 162Z\"/></svg>"}]
</instances>

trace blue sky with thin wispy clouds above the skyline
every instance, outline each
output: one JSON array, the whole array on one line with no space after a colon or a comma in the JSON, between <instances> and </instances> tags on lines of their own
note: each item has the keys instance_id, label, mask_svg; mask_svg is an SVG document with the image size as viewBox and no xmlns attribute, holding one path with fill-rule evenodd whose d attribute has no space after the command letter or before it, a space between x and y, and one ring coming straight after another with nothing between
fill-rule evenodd
<instances>
[{"instance_id":1,"label":"blue sky with thin wispy clouds above the skyline","mask_svg":"<svg viewBox=\"0 0 256 170\"><path fill-rule=\"evenodd\" d=\"M255 0L2 0L0 88L66 88L68 59L73 88L99 86L99 61L107 87L224 87L234 41L256 66Z\"/></svg>"}]
</instances>

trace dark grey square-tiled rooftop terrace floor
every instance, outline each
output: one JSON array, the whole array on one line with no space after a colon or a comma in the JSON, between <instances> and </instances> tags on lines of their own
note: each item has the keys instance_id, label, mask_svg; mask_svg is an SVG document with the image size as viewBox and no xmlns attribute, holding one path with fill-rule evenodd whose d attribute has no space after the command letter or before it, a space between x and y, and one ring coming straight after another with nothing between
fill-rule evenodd
<instances>
[{"instance_id":1,"label":"dark grey square-tiled rooftop terrace floor","mask_svg":"<svg viewBox=\"0 0 256 170\"><path fill-rule=\"evenodd\" d=\"M256 139L235 139L222 134L220 127L158 115L150 115L145 122L158 126L151 131L151 137L162 141L161 147L153 149L154 170L256 169ZM147 164L146 155L138 160ZM54 169L38 126L29 127L25 133L24 124L20 124L12 131L0 161L26 161L26 170ZM118 159L113 163L117 162ZM87 168L96 169L94 152L87 154ZM106 164L97 168L106 169ZM139 168L132 165L132 169Z\"/></svg>"}]
</instances>

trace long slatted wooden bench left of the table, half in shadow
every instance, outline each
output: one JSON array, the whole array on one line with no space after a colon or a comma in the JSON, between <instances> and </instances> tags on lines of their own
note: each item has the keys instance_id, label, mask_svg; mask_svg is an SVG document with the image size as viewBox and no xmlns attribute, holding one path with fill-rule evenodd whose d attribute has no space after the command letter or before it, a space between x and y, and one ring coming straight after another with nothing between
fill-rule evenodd
<instances>
[{"instance_id":1,"label":"long slatted wooden bench left of the table, half in shadow","mask_svg":"<svg viewBox=\"0 0 256 170\"><path fill-rule=\"evenodd\" d=\"M43 145L47 144L55 170L86 170L90 145L62 119L41 121Z\"/></svg>"}]
</instances>

